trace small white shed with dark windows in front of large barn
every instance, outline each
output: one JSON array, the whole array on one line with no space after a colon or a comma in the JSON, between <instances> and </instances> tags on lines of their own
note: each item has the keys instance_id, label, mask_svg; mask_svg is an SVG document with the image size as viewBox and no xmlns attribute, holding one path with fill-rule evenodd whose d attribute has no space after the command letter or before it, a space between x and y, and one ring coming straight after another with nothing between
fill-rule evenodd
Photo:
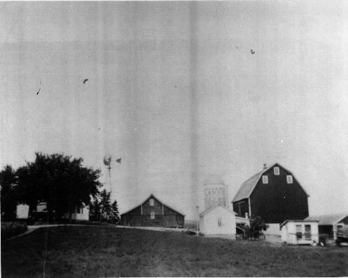
<instances>
[{"instance_id":1,"label":"small white shed with dark windows in front of large barn","mask_svg":"<svg viewBox=\"0 0 348 278\"><path fill-rule=\"evenodd\" d=\"M319 243L318 221L285 220L280 224L281 240L287 244Z\"/></svg>"}]
</instances>

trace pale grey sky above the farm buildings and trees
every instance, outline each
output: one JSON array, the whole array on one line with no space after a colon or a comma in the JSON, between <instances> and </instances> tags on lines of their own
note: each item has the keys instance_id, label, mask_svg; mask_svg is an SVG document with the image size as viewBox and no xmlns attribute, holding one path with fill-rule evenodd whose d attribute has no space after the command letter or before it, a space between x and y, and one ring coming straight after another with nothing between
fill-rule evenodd
<instances>
[{"instance_id":1,"label":"pale grey sky above the farm buildings and trees","mask_svg":"<svg viewBox=\"0 0 348 278\"><path fill-rule=\"evenodd\" d=\"M1 167L111 156L120 213L193 219L210 174L232 201L278 162L348 211L347 1L1 2L0 63Z\"/></svg>"}]
</instances>

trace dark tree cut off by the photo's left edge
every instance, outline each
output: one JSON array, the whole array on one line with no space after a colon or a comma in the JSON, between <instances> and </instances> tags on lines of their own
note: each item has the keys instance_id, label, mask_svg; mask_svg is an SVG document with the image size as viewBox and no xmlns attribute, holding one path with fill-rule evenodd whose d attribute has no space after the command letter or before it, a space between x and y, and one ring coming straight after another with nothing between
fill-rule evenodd
<instances>
[{"instance_id":1,"label":"dark tree cut off by the photo's left edge","mask_svg":"<svg viewBox=\"0 0 348 278\"><path fill-rule=\"evenodd\" d=\"M10 165L0 172L1 218L13 220L17 206L16 174Z\"/></svg>"}]
</instances>

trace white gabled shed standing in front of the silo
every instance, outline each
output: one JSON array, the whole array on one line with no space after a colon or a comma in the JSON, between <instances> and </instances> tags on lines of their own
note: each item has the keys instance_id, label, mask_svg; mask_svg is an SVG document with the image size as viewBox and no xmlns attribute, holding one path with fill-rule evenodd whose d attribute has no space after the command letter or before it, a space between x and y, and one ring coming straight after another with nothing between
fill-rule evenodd
<instances>
[{"instance_id":1,"label":"white gabled shed standing in front of the silo","mask_svg":"<svg viewBox=\"0 0 348 278\"><path fill-rule=\"evenodd\" d=\"M236 237L236 213L217 204L200 213L200 233L204 236Z\"/></svg>"}]
</instances>

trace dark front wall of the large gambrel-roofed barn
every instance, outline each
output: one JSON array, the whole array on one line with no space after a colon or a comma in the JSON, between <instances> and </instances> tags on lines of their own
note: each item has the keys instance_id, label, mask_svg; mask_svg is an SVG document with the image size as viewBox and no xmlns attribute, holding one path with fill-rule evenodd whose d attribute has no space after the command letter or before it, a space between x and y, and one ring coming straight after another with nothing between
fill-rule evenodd
<instances>
[{"instance_id":1,"label":"dark front wall of the large gambrel-roofed barn","mask_svg":"<svg viewBox=\"0 0 348 278\"><path fill-rule=\"evenodd\" d=\"M287 183L290 174L280 167L280 174L274 174L274 167L264 172L268 183L262 178L251 193L251 216L261 216L268 223L282 223L287 219L302 220L308 217L308 196L296 179Z\"/></svg>"}]
</instances>

